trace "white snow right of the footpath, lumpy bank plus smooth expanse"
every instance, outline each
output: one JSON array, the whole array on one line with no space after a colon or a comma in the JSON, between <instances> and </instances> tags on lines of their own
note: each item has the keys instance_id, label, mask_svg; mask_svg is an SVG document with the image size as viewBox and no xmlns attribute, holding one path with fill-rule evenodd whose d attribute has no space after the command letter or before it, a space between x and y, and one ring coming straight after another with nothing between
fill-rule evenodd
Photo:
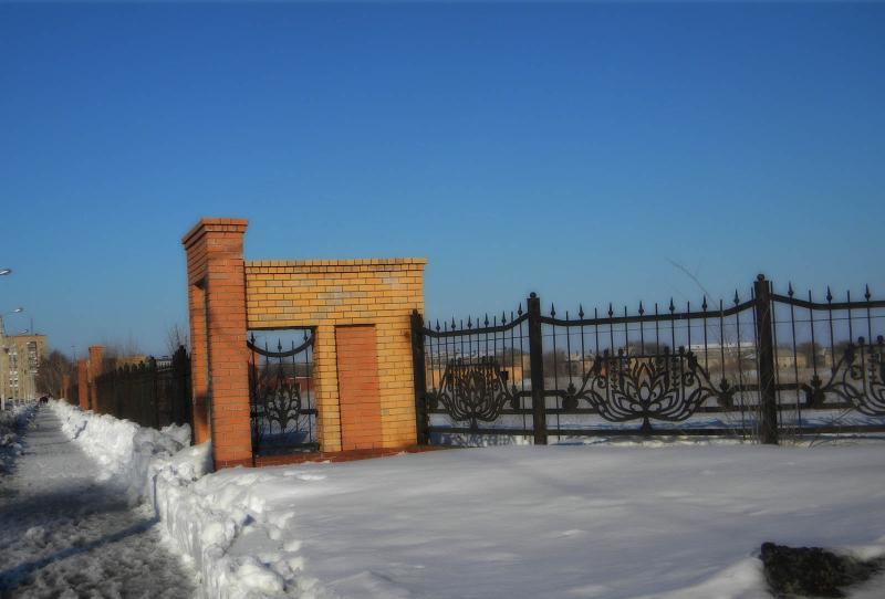
<instances>
[{"instance_id":1,"label":"white snow right of the footpath, lumpy bank plus smooth expanse","mask_svg":"<svg viewBox=\"0 0 885 599\"><path fill-rule=\"evenodd\" d=\"M54 409L155 505L204 597L748 599L770 597L766 540L885 555L882 442L498 446L206 474L208 446L173 455L174 430Z\"/></svg>"}]
</instances>

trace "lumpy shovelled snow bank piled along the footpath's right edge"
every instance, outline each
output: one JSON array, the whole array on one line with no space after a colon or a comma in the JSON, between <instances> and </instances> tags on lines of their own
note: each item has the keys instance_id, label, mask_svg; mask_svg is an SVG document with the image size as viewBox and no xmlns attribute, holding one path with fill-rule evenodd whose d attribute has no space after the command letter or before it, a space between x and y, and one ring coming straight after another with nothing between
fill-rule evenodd
<instances>
[{"instance_id":1,"label":"lumpy shovelled snow bank piled along the footpath's right edge","mask_svg":"<svg viewBox=\"0 0 885 599\"><path fill-rule=\"evenodd\" d=\"M261 479L259 471L206 476L211 446L187 446L188 427L156 431L63 402L50 406L63 431L101 464L101 479L118 481L132 501L154 507L166 539L200 572L204 597L316 597L314 582L296 576L298 564L267 555L229 555L242 537L270 538L277 532L280 516L264 514L261 502L248 493Z\"/></svg>"}]
</instances>

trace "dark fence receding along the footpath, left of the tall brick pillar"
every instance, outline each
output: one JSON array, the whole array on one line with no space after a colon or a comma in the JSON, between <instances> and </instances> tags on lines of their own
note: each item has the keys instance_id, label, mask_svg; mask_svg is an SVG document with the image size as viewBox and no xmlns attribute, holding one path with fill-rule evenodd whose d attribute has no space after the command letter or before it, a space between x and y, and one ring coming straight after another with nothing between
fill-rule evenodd
<instances>
[{"instance_id":1,"label":"dark fence receding along the footpath, left of the tall brick pillar","mask_svg":"<svg viewBox=\"0 0 885 599\"><path fill-rule=\"evenodd\" d=\"M190 357L184 347L170 359L148 358L104 372L93 385L100 413L155 429L185 423L192 428Z\"/></svg>"}]
</instances>

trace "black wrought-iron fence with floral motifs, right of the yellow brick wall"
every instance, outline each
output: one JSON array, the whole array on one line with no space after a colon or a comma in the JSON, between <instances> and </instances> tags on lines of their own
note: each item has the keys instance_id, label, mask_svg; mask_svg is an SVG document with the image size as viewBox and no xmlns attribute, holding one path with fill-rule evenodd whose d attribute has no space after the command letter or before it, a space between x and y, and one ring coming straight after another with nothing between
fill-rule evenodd
<instances>
[{"instance_id":1,"label":"black wrought-iron fence with floral motifs, right of the yellow brick wall","mask_svg":"<svg viewBox=\"0 0 885 599\"><path fill-rule=\"evenodd\" d=\"M420 442L885 432L885 301L773 293L631 314L413 315Z\"/></svg>"}]
</instances>

